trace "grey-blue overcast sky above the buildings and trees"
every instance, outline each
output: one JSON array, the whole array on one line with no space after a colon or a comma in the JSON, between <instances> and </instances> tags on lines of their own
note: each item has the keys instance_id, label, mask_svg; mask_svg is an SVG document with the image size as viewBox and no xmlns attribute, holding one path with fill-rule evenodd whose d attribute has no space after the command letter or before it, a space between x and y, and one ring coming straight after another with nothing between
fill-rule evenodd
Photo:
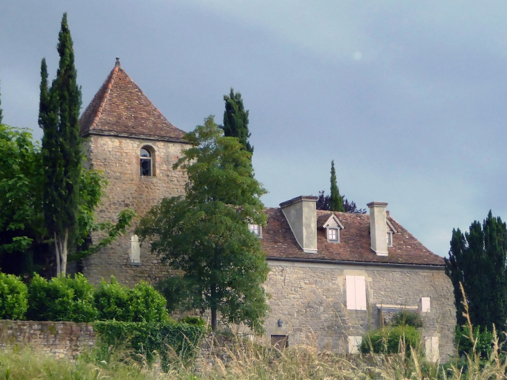
<instances>
[{"instance_id":1,"label":"grey-blue overcast sky above the buildings and trees","mask_svg":"<svg viewBox=\"0 0 507 380\"><path fill-rule=\"evenodd\" d=\"M442 256L453 228L507 219L505 1L0 0L3 122L37 138L65 11L83 110L117 56L185 131L240 91L266 206L329 193L335 160L342 194Z\"/></svg>"}]
</instances>

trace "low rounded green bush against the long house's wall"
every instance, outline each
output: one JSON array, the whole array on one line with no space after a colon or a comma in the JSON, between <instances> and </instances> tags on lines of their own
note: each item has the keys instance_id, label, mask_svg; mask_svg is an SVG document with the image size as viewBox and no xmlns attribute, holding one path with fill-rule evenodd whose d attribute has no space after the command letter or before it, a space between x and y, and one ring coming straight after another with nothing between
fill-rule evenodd
<instances>
[{"instance_id":1,"label":"low rounded green bush against the long house's wall","mask_svg":"<svg viewBox=\"0 0 507 380\"><path fill-rule=\"evenodd\" d=\"M369 331L363 336L359 351L363 354L397 354L404 351L410 355L410 348L416 349L421 341L421 335L415 327L397 326L385 327ZM400 345L400 342L402 345Z\"/></svg>"}]
</instances>

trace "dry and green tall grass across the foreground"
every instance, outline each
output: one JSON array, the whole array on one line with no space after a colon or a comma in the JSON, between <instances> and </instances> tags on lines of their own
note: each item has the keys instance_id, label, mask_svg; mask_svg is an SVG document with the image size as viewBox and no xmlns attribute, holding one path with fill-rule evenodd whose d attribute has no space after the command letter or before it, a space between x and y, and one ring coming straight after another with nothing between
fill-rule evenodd
<instances>
[{"instance_id":1,"label":"dry and green tall grass across the foreground","mask_svg":"<svg viewBox=\"0 0 507 380\"><path fill-rule=\"evenodd\" d=\"M404 353L346 357L317 352L310 346L278 352L242 343L191 365L175 360L169 372L126 357L115 354L106 362L84 355L69 361L15 347L0 353L0 379L506 379L506 363L495 353L490 361L462 361L463 367L427 363L417 353L410 357Z\"/></svg>"}]
</instances>

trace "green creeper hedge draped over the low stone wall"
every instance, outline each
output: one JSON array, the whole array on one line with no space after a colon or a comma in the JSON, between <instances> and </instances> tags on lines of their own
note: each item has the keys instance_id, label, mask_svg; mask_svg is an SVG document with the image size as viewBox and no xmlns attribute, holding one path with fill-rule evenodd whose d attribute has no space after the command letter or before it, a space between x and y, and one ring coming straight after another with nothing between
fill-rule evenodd
<instances>
[{"instance_id":1,"label":"green creeper hedge draped over the low stone wall","mask_svg":"<svg viewBox=\"0 0 507 380\"><path fill-rule=\"evenodd\" d=\"M103 360L107 361L115 349L131 351L148 363L158 353L164 367L173 359L193 358L207 330L205 326L176 322L94 322Z\"/></svg>"}]
</instances>

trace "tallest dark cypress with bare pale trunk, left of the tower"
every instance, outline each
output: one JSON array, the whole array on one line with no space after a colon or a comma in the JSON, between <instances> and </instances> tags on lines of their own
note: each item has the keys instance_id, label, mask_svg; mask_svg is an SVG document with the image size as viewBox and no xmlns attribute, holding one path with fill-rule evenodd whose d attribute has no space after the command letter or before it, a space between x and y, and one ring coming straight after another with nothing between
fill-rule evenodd
<instances>
[{"instance_id":1,"label":"tallest dark cypress with bare pale trunk, left of the tower","mask_svg":"<svg viewBox=\"0 0 507 380\"><path fill-rule=\"evenodd\" d=\"M57 275L65 276L67 252L77 232L82 160L78 124L81 88L76 82L67 13L63 14L57 50L60 63L49 90L45 60L41 64L39 123L44 130L44 219L55 240Z\"/></svg>"}]
</instances>

